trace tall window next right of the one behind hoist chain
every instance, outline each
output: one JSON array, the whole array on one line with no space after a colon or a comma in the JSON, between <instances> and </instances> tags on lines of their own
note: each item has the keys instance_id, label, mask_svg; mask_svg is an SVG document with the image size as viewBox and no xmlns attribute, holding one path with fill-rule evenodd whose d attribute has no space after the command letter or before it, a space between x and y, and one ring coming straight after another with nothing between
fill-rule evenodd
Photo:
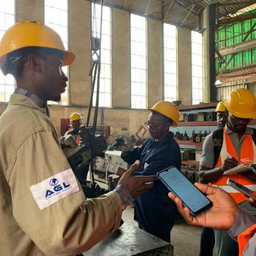
<instances>
[{"instance_id":1,"label":"tall window next right of the one behind hoist chain","mask_svg":"<svg viewBox=\"0 0 256 256\"><path fill-rule=\"evenodd\" d=\"M147 108L146 18L131 14L131 107Z\"/></svg>"}]
</instances>

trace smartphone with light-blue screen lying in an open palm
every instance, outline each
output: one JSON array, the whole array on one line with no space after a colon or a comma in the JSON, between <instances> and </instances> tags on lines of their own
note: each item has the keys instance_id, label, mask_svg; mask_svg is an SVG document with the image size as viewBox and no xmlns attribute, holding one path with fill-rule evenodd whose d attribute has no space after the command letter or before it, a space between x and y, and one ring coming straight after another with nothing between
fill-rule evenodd
<instances>
[{"instance_id":1,"label":"smartphone with light-blue screen lying in an open palm","mask_svg":"<svg viewBox=\"0 0 256 256\"><path fill-rule=\"evenodd\" d=\"M196 216L212 206L212 202L176 167L161 170L159 179Z\"/></svg>"}]
</instances>

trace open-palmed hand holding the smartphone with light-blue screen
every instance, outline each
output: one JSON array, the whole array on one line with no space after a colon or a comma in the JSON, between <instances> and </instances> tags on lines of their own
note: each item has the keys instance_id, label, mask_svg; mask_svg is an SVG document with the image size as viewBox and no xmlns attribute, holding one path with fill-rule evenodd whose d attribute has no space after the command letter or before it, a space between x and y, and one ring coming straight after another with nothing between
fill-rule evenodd
<instances>
[{"instance_id":1,"label":"open-palmed hand holding the smartphone with light-blue screen","mask_svg":"<svg viewBox=\"0 0 256 256\"><path fill-rule=\"evenodd\" d=\"M176 203L177 209L186 222L193 226L210 227L211 229L229 230L233 225L238 213L238 206L230 196L222 189L218 189L205 184L195 183L195 186L206 194L213 206L194 217L190 214L188 207L184 207L181 199L175 197L173 193L168 196Z\"/></svg>"}]
</instances>

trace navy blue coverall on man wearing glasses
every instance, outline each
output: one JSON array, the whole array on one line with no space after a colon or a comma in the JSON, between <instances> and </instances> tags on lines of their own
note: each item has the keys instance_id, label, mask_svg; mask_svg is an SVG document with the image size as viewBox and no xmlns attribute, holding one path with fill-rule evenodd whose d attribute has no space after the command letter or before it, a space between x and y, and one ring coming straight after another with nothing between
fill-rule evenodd
<instances>
[{"instance_id":1,"label":"navy blue coverall on man wearing glasses","mask_svg":"<svg viewBox=\"0 0 256 256\"><path fill-rule=\"evenodd\" d=\"M158 141L150 138L143 145L133 148L129 155L122 159L132 165L140 160L138 172L134 175L156 175L160 170L170 166L181 169L180 147L173 138L173 132ZM146 194L140 195L134 202L134 220L140 229L170 243L177 208L168 197L169 190L161 181L155 181L154 187Z\"/></svg>"}]
</instances>

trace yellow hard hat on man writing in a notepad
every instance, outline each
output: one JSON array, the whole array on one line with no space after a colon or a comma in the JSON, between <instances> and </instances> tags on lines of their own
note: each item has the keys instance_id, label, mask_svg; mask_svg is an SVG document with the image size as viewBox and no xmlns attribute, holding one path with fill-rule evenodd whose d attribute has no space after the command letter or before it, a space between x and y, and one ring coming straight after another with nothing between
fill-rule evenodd
<instances>
[{"instance_id":1,"label":"yellow hard hat on man writing in a notepad","mask_svg":"<svg viewBox=\"0 0 256 256\"><path fill-rule=\"evenodd\" d=\"M235 117L256 117L256 97L250 90L238 88L231 91L224 101L224 106Z\"/></svg>"}]
</instances>

